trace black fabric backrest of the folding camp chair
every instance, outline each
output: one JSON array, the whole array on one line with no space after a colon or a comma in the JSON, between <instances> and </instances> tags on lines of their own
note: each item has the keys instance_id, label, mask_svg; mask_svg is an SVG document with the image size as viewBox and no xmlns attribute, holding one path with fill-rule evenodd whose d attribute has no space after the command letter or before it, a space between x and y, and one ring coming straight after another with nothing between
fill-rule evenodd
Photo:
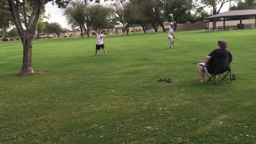
<instances>
[{"instance_id":1,"label":"black fabric backrest of the folding camp chair","mask_svg":"<svg viewBox=\"0 0 256 144\"><path fill-rule=\"evenodd\" d=\"M229 70L230 52L227 51L225 54L217 55L210 64L212 74L222 74Z\"/></svg>"}]
</instances>

